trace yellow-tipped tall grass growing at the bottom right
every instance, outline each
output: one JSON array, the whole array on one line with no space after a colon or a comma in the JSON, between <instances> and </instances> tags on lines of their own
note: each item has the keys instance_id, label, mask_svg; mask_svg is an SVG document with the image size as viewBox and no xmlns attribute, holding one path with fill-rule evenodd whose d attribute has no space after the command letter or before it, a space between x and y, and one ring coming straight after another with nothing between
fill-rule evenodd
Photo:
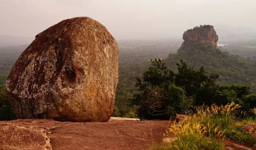
<instances>
[{"instance_id":1,"label":"yellow-tipped tall grass growing at the bottom right","mask_svg":"<svg viewBox=\"0 0 256 150\"><path fill-rule=\"evenodd\" d=\"M224 150L224 141L253 146L256 139L251 134L242 131L242 126L248 122L238 122L241 106L232 102L225 106L195 107L196 114L192 119L174 122L164 137L175 137L168 146L154 147L152 150ZM252 110L255 112L256 109Z\"/></svg>"}]
</instances>

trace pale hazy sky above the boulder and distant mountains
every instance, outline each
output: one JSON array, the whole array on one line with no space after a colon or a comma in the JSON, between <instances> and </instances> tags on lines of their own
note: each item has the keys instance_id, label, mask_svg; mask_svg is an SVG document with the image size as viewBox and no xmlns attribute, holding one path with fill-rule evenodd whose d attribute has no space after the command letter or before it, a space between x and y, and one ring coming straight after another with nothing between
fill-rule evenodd
<instances>
[{"instance_id":1,"label":"pale hazy sky above the boulder and distant mountains","mask_svg":"<svg viewBox=\"0 0 256 150\"><path fill-rule=\"evenodd\" d=\"M0 0L0 35L35 36L88 16L118 39L182 37L200 24L256 29L256 0Z\"/></svg>"}]
</instances>

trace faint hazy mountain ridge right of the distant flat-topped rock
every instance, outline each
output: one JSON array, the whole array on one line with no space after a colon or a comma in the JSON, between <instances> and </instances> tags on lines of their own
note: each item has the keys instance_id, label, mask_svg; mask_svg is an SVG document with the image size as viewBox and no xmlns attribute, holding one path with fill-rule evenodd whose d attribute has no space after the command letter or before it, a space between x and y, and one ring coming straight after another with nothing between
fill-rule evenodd
<instances>
[{"instance_id":1,"label":"faint hazy mountain ridge right of the distant flat-topped rock","mask_svg":"<svg viewBox=\"0 0 256 150\"><path fill-rule=\"evenodd\" d=\"M214 26L218 32L220 41L238 41L256 39L256 30L246 26L228 26L226 24L217 24Z\"/></svg>"}]
</instances>

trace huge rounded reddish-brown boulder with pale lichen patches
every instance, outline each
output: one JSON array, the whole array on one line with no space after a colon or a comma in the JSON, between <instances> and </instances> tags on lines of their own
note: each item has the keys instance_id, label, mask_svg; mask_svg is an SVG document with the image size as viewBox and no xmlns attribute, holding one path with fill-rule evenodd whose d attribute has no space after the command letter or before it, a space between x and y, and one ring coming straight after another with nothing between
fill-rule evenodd
<instances>
[{"instance_id":1,"label":"huge rounded reddish-brown boulder with pale lichen patches","mask_svg":"<svg viewBox=\"0 0 256 150\"><path fill-rule=\"evenodd\" d=\"M63 20L41 32L6 81L16 116L108 121L118 83L118 52L108 30L88 17Z\"/></svg>"}]
</instances>

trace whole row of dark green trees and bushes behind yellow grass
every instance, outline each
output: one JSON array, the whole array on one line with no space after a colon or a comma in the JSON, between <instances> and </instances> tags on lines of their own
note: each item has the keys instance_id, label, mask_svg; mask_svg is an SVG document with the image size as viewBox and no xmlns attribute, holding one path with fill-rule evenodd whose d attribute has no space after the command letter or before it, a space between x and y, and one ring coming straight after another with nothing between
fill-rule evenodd
<instances>
[{"instance_id":1,"label":"whole row of dark green trees and bushes behind yellow grass","mask_svg":"<svg viewBox=\"0 0 256 150\"><path fill-rule=\"evenodd\" d=\"M219 86L219 75L208 73L203 67L196 70L186 62L176 64L175 74L167 69L162 60L151 60L152 67L136 78L140 93L134 95L134 104L139 105L138 116L146 119L168 119L184 114L190 106L206 104L226 105L235 102L244 106L243 111L254 108L256 96L250 95L250 86ZM249 113L248 113L249 114Z\"/></svg>"}]
</instances>

